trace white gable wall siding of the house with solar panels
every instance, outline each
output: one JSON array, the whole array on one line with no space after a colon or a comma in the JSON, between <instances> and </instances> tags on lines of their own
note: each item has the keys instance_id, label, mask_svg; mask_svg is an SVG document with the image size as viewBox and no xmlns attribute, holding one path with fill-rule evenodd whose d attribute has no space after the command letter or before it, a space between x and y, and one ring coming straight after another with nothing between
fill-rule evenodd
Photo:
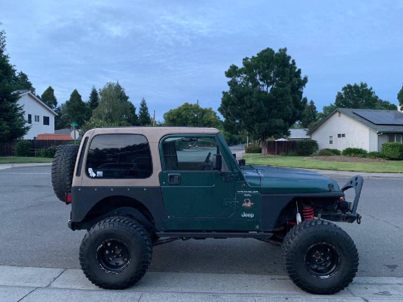
<instances>
[{"instance_id":1,"label":"white gable wall siding of the house with solar panels","mask_svg":"<svg viewBox=\"0 0 403 302\"><path fill-rule=\"evenodd\" d=\"M376 143L373 132L363 124L339 112L333 113L312 134L312 139L319 144L319 149L334 148L343 150L347 147L357 147L376 151ZM338 137L338 134L346 134L346 137ZM329 136L333 136L333 144L329 143ZM371 137L371 138L370 138ZM375 149L374 149L375 148Z\"/></svg>"}]
</instances>

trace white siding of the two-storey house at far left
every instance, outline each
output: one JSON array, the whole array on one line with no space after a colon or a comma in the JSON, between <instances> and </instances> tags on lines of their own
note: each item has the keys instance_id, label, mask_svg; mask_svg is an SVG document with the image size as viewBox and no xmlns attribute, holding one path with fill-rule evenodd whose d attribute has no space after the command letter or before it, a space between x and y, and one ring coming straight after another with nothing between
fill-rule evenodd
<instances>
[{"instance_id":1,"label":"white siding of the two-storey house at far left","mask_svg":"<svg viewBox=\"0 0 403 302\"><path fill-rule=\"evenodd\" d=\"M31 129L24 136L25 139L33 139L40 133L54 133L54 113L46 109L29 94L21 96L18 104L24 106L26 125L31 125ZM32 116L31 124L28 124L28 114ZM39 115L39 122L35 122L35 115ZM44 116L49 117L49 125L43 124Z\"/></svg>"}]
</instances>

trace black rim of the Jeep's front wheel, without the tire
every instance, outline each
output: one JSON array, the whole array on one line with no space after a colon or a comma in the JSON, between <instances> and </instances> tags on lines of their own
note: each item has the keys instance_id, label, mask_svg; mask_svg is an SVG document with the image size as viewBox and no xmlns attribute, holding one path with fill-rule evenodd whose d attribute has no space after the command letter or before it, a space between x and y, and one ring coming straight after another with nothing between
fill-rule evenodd
<instances>
[{"instance_id":1,"label":"black rim of the Jeep's front wheel, without the tire","mask_svg":"<svg viewBox=\"0 0 403 302\"><path fill-rule=\"evenodd\" d=\"M305 266L316 278L329 278L339 269L340 254L328 243L316 243L305 254Z\"/></svg>"}]
</instances>

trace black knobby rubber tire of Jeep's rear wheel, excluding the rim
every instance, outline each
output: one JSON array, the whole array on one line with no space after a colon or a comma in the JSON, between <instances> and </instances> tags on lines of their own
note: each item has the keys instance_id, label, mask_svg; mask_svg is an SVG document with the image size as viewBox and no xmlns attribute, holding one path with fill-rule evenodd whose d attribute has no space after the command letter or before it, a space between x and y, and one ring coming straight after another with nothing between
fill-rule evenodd
<instances>
[{"instance_id":1,"label":"black knobby rubber tire of Jeep's rear wheel, excluding the rim","mask_svg":"<svg viewBox=\"0 0 403 302\"><path fill-rule=\"evenodd\" d=\"M123 242L130 253L130 261L123 271L107 272L100 265L97 253L105 240ZM106 289L124 289L138 282L150 266L153 243L144 226L125 216L106 218L95 224L80 246L80 264L86 277Z\"/></svg>"}]
</instances>

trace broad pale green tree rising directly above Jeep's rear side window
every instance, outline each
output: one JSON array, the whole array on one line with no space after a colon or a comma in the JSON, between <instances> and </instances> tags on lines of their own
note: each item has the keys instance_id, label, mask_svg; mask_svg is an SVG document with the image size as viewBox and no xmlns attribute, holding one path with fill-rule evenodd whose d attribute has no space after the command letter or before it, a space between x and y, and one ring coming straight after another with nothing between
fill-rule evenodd
<instances>
[{"instance_id":1,"label":"broad pale green tree rising directly above Jeep's rear side window","mask_svg":"<svg viewBox=\"0 0 403 302\"><path fill-rule=\"evenodd\" d=\"M136 107L128 101L129 97L119 82L107 83L104 88L99 90L99 97L99 105L93 111L94 119L102 120L107 125L139 124Z\"/></svg>"}]
</instances>

